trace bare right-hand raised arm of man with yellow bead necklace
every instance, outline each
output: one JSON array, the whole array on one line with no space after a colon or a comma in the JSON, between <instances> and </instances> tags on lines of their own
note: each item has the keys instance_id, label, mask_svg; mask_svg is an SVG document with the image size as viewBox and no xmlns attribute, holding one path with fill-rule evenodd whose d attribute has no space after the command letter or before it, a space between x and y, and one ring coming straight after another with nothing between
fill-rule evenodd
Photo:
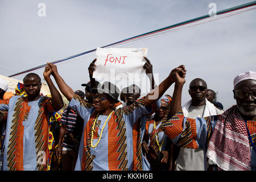
<instances>
[{"instance_id":1,"label":"bare right-hand raised arm of man with yellow bead necklace","mask_svg":"<svg viewBox=\"0 0 256 182\"><path fill-rule=\"evenodd\" d=\"M145 106L151 106L155 101L159 100L159 98L163 96L166 90L175 82L175 74L185 78L185 66L180 65L179 67L172 69L170 75L164 81L162 81L158 87L156 87L154 90L148 93L146 97L144 97Z\"/></svg>"}]
</instances>

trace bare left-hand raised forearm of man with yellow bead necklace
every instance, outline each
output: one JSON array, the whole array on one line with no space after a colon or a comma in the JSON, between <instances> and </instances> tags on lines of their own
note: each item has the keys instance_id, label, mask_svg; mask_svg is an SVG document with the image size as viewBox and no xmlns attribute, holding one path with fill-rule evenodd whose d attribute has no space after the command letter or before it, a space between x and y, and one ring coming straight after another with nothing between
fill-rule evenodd
<instances>
[{"instance_id":1,"label":"bare left-hand raised forearm of man with yellow bead necklace","mask_svg":"<svg viewBox=\"0 0 256 182\"><path fill-rule=\"evenodd\" d=\"M71 101L75 95L74 91L65 83L63 78L57 72L57 67L55 64L47 63L52 69L52 76L55 78L57 85L59 86L60 92L67 98L68 101Z\"/></svg>"}]
</instances>

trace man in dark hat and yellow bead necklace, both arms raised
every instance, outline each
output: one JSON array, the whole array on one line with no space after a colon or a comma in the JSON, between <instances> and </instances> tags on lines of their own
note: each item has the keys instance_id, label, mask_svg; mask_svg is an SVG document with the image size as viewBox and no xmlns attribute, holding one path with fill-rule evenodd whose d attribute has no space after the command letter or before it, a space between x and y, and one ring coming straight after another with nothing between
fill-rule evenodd
<instances>
[{"instance_id":1,"label":"man in dark hat and yellow bead necklace, both arms raised","mask_svg":"<svg viewBox=\"0 0 256 182\"><path fill-rule=\"evenodd\" d=\"M95 63L96 59L92 62ZM185 67L172 69L170 75L146 97L127 107L114 111L113 106L119 97L119 89L110 82L97 88L94 106L81 100L65 84L57 72L56 65L48 63L52 75L64 96L71 101L69 107L75 108L84 118L84 133L81 139L79 156L75 170L131 170L133 165L133 131L138 118L151 111L151 105L163 96L174 83L177 75L185 77ZM95 69L95 68L93 68ZM92 74L90 74L92 78ZM92 81L92 80L91 80ZM92 82L92 85L94 83ZM154 94L158 97L151 99ZM151 98L150 98L151 97Z\"/></svg>"}]
</instances>

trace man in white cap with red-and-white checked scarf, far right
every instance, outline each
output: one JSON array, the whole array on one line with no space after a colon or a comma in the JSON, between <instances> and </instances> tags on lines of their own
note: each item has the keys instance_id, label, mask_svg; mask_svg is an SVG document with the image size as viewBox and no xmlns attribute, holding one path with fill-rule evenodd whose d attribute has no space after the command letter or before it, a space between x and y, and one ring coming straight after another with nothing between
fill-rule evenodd
<instances>
[{"instance_id":1,"label":"man in white cap with red-and-white checked scarf, far right","mask_svg":"<svg viewBox=\"0 0 256 182\"><path fill-rule=\"evenodd\" d=\"M256 73L245 72L234 78L236 105L220 115L185 117L179 111L162 122L172 141L183 148L202 148L218 169L230 171L256 170ZM183 83L179 84L183 86ZM175 85L176 85L175 84ZM172 102L181 102L181 90L174 90ZM175 108L174 108L175 109ZM181 137L182 136L182 137ZM205 169L206 162L205 162Z\"/></svg>"}]
</instances>

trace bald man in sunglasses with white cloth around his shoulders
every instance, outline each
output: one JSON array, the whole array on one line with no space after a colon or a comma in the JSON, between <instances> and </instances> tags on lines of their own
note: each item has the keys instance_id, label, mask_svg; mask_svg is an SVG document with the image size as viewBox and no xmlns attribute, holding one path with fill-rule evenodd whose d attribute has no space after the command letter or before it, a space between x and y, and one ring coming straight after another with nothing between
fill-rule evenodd
<instances>
[{"instance_id":1,"label":"bald man in sunglasses with white cloth around his shoulders","mask_svg":"<svg viewBox=\"0 0 256 182\"><path fill-rule=\"evenodd\" d=\"M207 117L209 115L222 114L223 111L217 109L207 98L207 83L201 78L195 78L189 84L189 95L191 100L182 107L185 117ZM205 160L203 149L180 148L176 160L176 171L204 171Z\"/></svg>"}]
</instances>

